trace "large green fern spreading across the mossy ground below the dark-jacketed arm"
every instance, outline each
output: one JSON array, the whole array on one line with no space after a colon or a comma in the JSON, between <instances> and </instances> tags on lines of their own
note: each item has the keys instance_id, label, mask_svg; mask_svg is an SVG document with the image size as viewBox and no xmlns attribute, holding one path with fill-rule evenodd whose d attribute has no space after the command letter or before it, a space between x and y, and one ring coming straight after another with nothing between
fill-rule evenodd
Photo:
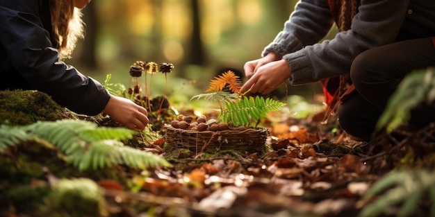
<instances>
[{"instance_id":1,"label":"large green fern spreading across the mossy ground below the dark-jacketed arm","mask_svg":"<svg viewBox=\"0 0 435 217\"><path fill-rule=\"evenodd\" d=\"M58 147L65 153L68 162L81 171L117 164L140 169L170 166L158 155L124 146L122 140L131 139L134 133L126 128L104 128L90 121L77 120L39 121L21 127L3 126L0 128L0 152L19 141L37 138Z\"/></svg>"}]
</instances>

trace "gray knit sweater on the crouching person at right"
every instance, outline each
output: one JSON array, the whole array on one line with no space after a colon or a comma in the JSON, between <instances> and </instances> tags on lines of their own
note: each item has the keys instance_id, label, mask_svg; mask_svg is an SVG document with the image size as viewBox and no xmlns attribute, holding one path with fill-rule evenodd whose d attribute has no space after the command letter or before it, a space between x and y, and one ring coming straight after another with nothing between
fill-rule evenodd
<instances>
[{"instance_id":1,"label":"gray knit sweater on the crouching person at right","mask_svg":"<svg viewBox=\"0 0 435 217\"><path fill-rule=\"evenodd\" d=\"M262 55L283 56L292 71L292 85L340 76L349 73L356 55L367 49L435 36L435 0L362 0L351 29L319 43L333 24L327 0L299 1Z\"/></svg>"}]
</instances>

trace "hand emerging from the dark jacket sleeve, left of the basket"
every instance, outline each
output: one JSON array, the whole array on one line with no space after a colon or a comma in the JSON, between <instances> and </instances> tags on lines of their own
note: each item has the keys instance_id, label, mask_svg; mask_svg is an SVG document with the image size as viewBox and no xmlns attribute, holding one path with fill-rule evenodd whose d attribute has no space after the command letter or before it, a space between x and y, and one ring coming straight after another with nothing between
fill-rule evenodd
<instances>
[{"instance_id":1,"label":"hand emerging from the dark jacket sleeve, left of the basket","mask_svg":"<svg viewBox=\"0 0 435 217\"><path fill-rule=\"evenodd\" d=\"M120 96L110 95L103 112L108 114L114 121L131 130L143 130L149 121L145 107Z\"/></svg>"}]
</instances>

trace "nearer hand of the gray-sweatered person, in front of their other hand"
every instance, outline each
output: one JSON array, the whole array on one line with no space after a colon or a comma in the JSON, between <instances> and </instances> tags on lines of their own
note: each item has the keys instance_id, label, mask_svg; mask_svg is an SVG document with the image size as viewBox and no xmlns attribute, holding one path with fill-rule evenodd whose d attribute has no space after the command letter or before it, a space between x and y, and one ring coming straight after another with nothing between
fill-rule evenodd
<instances>
[{"instance_id":1,"label":"nearer hand of the gray-sweatered person, in front of their other hand","mask_svg":"<svg viewBox=\"0 0 435 217\"><path fill-rule=\"evenodd\" d=\"M242 86L240 92L270 94L279 85L290 78L291 70L286 60L278 60L264 64L256 69L251 78Z\"/></svg>"}]
</instances>

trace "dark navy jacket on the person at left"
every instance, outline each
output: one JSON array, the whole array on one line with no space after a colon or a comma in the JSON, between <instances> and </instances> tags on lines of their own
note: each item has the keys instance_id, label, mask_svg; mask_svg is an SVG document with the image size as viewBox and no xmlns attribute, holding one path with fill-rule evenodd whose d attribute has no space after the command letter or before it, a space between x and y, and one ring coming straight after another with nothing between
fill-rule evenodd
<instances>
[{"instance_id":1,"label":"dark navy jacket on the person at left","mask_svg":"<svg viewBox=\"0 0 435 217\"><path fill-rule=\"evenodd\" d=\"M48 0L0 1L0 89L36 89L79 114L99 114L110 96L97 80L59 62Z\"/></svg>"}]
</instances>

